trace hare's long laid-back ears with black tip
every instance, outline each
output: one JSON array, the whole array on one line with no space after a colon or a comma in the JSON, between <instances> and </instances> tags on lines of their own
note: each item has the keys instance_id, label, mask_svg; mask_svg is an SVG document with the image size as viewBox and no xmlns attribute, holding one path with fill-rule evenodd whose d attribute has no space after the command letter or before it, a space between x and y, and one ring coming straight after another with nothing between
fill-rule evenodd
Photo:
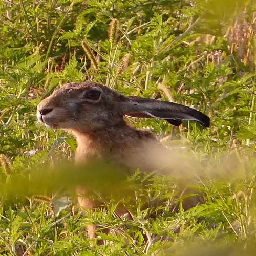
<instances>
[{"instance_id":1,"label":"hare's long laid-back ears with black tip","mask_svg":"<svg viewBox=\"0 0 256 256\"><path fill-rule=\"evenodd\" d=\"M168 123L179 126L182 120L194 120L205 127L210 126L210 118L200 111L181 104L148 99L127 97L129 100L123 106L123 113L131 117L158 117Z\"/></svg>"}]
</instances>

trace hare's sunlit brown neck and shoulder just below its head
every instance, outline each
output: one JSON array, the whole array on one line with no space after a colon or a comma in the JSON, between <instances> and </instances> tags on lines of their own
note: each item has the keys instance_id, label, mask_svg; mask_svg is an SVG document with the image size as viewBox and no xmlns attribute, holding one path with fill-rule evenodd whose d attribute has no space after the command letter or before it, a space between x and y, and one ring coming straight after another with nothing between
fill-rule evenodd
<instances>
[{"instance_id":1,"label":"hare's sunlit brown neck and shoulder just below its head","mask_svg":"<svg viewBox=\"0 0 256 256\"><path fill-rule=\"evenodd\" d=\"M77 140L75 155L76 163L84 162L88 158L121 158L141 147L143 142L156 141L149 131L138 130L127 124L111 126L84 133L78 130L71 131Z\"/></svg>"}]
</instances>

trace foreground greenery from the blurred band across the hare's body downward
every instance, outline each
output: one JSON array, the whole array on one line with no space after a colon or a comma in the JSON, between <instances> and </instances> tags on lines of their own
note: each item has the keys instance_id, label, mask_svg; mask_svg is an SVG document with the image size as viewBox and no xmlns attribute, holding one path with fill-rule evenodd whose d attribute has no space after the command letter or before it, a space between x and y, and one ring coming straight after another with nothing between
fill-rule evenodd
<instances>
[{"instance_id":1,"label":"foreground greenery from the blurred band across the hare's body downward","mask_svg":"<svg viewBox=\"0 0 256 256\"><path fill-rule=\"evenodd\" d=\"M192 156L189 149L172 150L176 161L182 163L183 178L177 172L129 175L99 161L82 167L63 162L54 168L45 162L16 173L10 173L15 165L8 165L0 188L3 252L8 244L10 251L24 247L24 253L31 247L32 254L43 251L43 255L55 250L57 255L252 255L255 158L237 150L213 156ZM33 158L36 155L29 161ZM197 184L189 183L187 177L194 177ZM169 206L177 202L170 200L175 198L174 180L198 189L205 203L188 211L180 206L180 212L172 212ZM108 210L82 214L74 195L77 185L86 187L86 196L101 200ZM156 201L165 203L155 208L152 203ZM129 209L133 220L116 214L118 203ZM84 232L90 223L113 229L109 235L99 233L107 245L90 247Z\"/></svg>"}]
</instances>

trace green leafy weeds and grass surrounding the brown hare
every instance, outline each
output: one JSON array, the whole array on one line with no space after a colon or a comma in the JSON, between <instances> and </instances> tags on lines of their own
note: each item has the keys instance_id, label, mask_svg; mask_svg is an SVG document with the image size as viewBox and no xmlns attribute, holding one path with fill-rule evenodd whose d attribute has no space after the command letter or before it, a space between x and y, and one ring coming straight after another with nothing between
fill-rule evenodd
<instances>
[{"instance_id":1,"label":"green leafy weeds and grass surrounding the brown hare","mask_svg":"<svg viewBox=\"0 0 256 256\"><path fill-rule=\"evenodd\" d=\"M1 255L254 255L255 4L1 0ZM140 205L168 196L163 177L139 188L129 208L133 221L115 217L115 201L106 202L109 211L80 214L72 186L63 197L60 188L72 183L73 170L49 170L70 161L76 144L38 125L36 106L61 84L84 80L183 103L211 117L210 129L129 120L194 155L200 164L193 167L207 174L200 185L206 204L178 214L163 208L148 219L151 209ZM106 176L90 178L104 187ZM119 180L113 182L120 189ZM101 234L106 245L90 246L83 230L88 223L113 228Z\"/></svg>"}]
</instances>

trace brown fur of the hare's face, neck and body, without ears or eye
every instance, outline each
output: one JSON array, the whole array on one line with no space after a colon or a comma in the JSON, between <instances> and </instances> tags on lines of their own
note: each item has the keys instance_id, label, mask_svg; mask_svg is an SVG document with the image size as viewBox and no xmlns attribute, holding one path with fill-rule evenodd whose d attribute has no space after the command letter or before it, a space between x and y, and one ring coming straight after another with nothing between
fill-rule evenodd
<instances>
[{"instance_id":1,"label":"brown fur of the hare's face, neck and body, without ears or eye","mask_svg":"<svg viewBox=\"0 0 256 256\"><path fill-rule=\"evenodd\" d=\"M84 99L84 94L93 89L101 92L100 100ZM150 99L146 103L149 101ZM126 166L131 173L137 168L144 171L157 170L161 165L167 166L169 172L168 152L156 137L151 132L138 130L124 121L125 113L134 108L129 102L129 97L98 83L68 83L39 103L37 117L50 127L65 129L74 134L78 145L76 164L86 163L96 157ZM47 110L49 113L43 113ZM102 206L101 202L83 196L86 188L77 188L77 194L79 205L83 208ZM193 207L199 202L198 199L194 201L195 198L190 200L185 208ZM119 207L117 211L120 215L125 213L123 207ZM93 225L88 226L88 234L90 238L95 237Z\"/></svg>"}]
</instances>

